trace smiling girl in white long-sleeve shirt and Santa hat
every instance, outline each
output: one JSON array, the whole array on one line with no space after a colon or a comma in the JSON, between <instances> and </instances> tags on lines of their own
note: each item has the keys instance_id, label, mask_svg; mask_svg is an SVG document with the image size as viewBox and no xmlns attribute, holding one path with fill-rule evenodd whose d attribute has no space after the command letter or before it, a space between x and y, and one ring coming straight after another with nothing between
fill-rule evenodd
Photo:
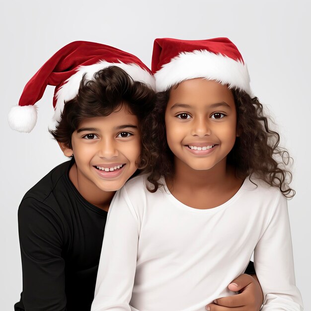
<instances>
[{"instance_id":1,"label":"smiling girl in white long-sleeve shirt and Santa hat","mask_svg":"<svg viewBox=\"0 0 311 311\"><path fill-rule=\"evenodd\" d=\"M157 39L152 65L160 93L143 137L149 174L112 202L91 310L217 310L211 303L233 295L226 284L253 251L262 310L302 310L287 153L250 97L237 48Z\"/></svg>"}]
</instances>

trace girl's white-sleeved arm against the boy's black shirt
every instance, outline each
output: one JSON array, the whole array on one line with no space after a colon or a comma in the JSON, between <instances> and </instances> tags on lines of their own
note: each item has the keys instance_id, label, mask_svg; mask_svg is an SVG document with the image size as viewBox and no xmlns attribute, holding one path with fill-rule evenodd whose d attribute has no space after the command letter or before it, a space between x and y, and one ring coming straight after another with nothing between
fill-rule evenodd
<instances>
[{"instance_id":1,"label":"girl's white-sleeved arm against the boy's black shirt","mask_svg":"<svg viewBox=\"0 0 311 311\"><path fill-rule=\"evenodd\" d=\"M138 216L123 188L109 208L91 311L131 311L138 238Z\"/></svg>"}]
</instances>

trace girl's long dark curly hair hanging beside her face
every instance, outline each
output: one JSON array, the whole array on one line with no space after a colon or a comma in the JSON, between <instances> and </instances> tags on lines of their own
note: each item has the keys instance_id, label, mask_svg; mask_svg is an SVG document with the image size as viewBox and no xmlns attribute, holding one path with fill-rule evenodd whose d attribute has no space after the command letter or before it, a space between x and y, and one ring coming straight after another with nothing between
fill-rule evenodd
<instances>
[{"instance_id":1,"label":"girl's long dark curly hair hanging beside her face","mask_svg":"<svg viewBox=\"0 0 311 311\"><path fill-rule=\"evenodd\" d=\"M151 192L161 186L158 182L161 176L168 179L173 176L173 153L167 145L164 120L170 89L157 93L155 109L145 121L149 123L150 133L143 133L143 145L149 154L143 160L149 173L148 181L153 184L148 187ZM293 197L295 190L289 187L292 174L286 168L291 157L279 147L280 136L269 128L262 104L244 91L232 89L232 92L239 137L227 156L227 163L235 167L236 176L250 179L255 175L279 187L285 197Z\"/></svg>"}]
</instances>

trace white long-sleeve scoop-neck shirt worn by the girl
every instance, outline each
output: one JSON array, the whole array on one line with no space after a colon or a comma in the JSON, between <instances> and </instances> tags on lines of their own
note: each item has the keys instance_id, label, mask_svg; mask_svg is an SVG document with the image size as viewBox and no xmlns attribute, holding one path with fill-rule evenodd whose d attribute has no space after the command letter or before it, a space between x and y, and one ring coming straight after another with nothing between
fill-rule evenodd
<instances>
[{"instance_id":1,"label":"white long-sleeve scoop-neck shirt worn by the girl","mask_svg":"<svg viewBox=\"0 0 311 311\"><path fill-rule=\"evenodd\" d=\"M227 286L253 251L261 310L303 310L287 201L254 181L206 210L184 205L166 186L150 193L144 175L129 181L109 209L91 311L204 311L234 294Z\"/></svg>"}]
</instances>

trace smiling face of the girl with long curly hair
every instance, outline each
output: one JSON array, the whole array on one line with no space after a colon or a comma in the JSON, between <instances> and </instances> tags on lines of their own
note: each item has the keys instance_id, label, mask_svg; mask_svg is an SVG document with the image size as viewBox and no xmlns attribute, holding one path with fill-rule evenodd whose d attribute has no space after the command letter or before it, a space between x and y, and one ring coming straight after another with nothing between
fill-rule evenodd
<instances>
[{"instance_id":1,"label":"smiling face of the girl with long curly hair","mask_svg":"<svg viewBox=\"0 0 311 311\"><path fill-rule=\"evenodd\" d=\"M181 82L170 91L165 126L175 165L181 161L194 170L226 165L237 136L231 90L202 78Z\"/></svg>"}]
</instances>

